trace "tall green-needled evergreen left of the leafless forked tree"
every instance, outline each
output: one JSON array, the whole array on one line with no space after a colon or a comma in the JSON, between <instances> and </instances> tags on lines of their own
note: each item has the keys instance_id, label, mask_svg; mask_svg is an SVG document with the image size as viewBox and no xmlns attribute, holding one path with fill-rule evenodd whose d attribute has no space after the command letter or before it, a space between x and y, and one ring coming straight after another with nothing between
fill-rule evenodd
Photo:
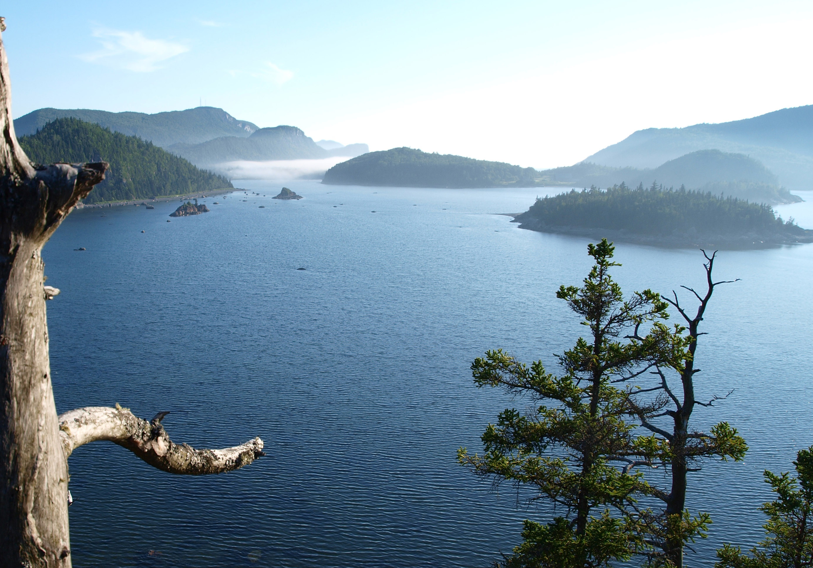
<instances>
[{"instance_id":1,"label":"tall green-needled evergreen left of the leafless forked tree","mask_svg":"<svg viewBox=\"0 0 813 568\"><path fill-rule=\"evenodd\" d=\"M556 294L590 332L559 356L563 375L547 372L541 361L528 367L502 349L472 363L478 387L502 387L529 397L535 408L502 411L482 436L484 453L461 448L459 462L497 482L533 487L537 498L563 511L546 524L525 521L524 543L505 566L607 566L649 551L637 500L654 488L633 467L650 438L625 421L630 392L615 383L655 363L679 365L687 340L663 323L667 302L657 293L624 299L609 273L620 265L606 239L588 250L595 265L584 285ZM646 335L638 336L641 329ZM633 330L636 338L620 339Z\"/></svg>"}]
</instances>

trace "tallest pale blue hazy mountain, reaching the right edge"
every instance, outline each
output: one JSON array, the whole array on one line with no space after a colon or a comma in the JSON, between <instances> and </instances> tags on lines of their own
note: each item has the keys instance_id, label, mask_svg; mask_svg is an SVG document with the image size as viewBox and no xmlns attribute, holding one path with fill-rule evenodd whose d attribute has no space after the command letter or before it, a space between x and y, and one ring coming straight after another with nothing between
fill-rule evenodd
<instances>
[{"instance_id":1,"label":"tallest pale blue hazy mountain, reaching the right edge","mask_svg":"<svg viewBox=\"0 0 813 568\"><path fill-rule=\"evenodd\" d=\"M756 158L789 189L813 189L813 105L751 119L685 128L647 128L585 158L611 167L652 168L696 150Z\"/></svg>"}]
</instances>

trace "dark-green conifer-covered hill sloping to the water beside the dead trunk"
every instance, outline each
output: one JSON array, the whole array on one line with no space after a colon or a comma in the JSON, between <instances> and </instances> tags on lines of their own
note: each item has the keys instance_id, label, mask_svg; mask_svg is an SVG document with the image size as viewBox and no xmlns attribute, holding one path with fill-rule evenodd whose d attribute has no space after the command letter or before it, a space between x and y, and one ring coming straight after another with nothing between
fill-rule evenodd
<instances>
[{"instance_id":1,"label":"dark-green conifer-covered hill sloping to the water beside the dead trunk","mask_svg":"<svg viewBox=\"0 0 813 568\"><path fill-rule=\"evenodd\" d=\"M56 119L20 137L35 163L110 163L107 176L85 202L107 202L232 188L223 176L199 170L183 158L138 137L111 132L79 119Z\"/></svg>"}]
</instances>

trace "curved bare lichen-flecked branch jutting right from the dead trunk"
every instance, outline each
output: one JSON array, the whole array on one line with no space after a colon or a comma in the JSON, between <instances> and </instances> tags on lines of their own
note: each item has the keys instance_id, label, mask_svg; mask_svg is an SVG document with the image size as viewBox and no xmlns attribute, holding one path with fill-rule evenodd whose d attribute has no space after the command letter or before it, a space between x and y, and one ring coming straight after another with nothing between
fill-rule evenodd
<instances>
[{"instance_id":1,"label":"curved bare lichen-flecked branch jutting right from the dead trunk","mask_svg":"<svg viewBox=\"0 0 813 568\"><path fill-rule=\"evenodd\" d=\"M65 457L80 445L108 440L135 453L150 466L180 475L207 475L237 470L263 453L263 440L225 449L193 449L169 439L157 415L152 422L138 418L129 409L88 406L59 416L59 436Z\"/></svg>"}]
</instances>

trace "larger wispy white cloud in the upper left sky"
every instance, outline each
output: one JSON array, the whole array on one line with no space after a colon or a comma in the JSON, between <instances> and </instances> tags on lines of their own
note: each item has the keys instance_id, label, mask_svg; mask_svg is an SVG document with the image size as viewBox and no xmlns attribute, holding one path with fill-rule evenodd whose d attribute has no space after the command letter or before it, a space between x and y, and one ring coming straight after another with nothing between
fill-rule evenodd
<instances>
[{"instance_id":1,"label":"larger wispy white cloud in the upper left sky","mask_svg":"<svg viewBox=\"0 0 813 568\"><path fill-rule=\"evenodd\" d=\"M93 37L102 44L102 49L89 54L81 54L80 59L90 63L100 63L134 72L151 72L160 69L160 63L189 51L180 43L166 40L152 40L141 32L124 32L110 28L98 28Z\"/></svg>"}]
</instances>

